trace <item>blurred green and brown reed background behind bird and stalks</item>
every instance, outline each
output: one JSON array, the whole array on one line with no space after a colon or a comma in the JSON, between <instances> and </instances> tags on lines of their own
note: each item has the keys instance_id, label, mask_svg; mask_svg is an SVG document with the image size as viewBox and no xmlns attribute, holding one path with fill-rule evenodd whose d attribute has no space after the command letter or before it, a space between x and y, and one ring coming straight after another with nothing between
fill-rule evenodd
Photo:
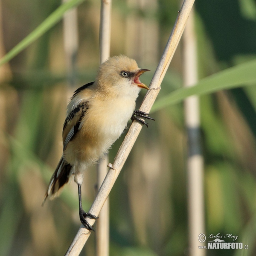
<instances>
[{"instance_id":1,"label":"blurred green and brown reed background behind bird and stalks","mask_svg":"<svg viewBox=\"0 0 256 256\"><path fill-rule=\"evenodd\" d=\"M32 32L61 2L0 0L0 56ZM174 0L113 1L111 55L135 58L149 84L180 9ZM68 99L94 81L99 66L100 2L78 8L79 48L69 84L63 23L0 67L0 255L64 255L79 226L77 186L41 207L62 153ZM256 56L255 0L197 0L198 73L202 79ZM159 99L182 87L182 42ZM255 70L256 72L256 70ZM244 85L244 84L241 84ZM141 92L138 107L145 92ZM206 234L233 234L256 255L256 85L200 97ZM183 104L161 108L142 132L110 195L111 256L189 255L187 136ZM122 143L116 141L110 162ZM95 166L84 174L87 210L96 195ZM96 227L97 228L97 227ZM95 235L81 255L95 254Z\"/></svg>"}]
</instances>

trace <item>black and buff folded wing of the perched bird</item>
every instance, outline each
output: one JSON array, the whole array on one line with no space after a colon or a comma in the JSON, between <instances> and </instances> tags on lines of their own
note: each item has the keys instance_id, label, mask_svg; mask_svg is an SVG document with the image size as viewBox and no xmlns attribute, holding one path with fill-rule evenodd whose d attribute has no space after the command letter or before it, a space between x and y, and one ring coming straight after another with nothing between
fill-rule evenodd
<instances>
[{"instance_id":1,"label":"black and buff folded wing of the perched bird","mask_svg":"<svg viewBox=\"0 0 256 256\"><path fill-rule=\"evenodd\" d=\"M89 101L84 100L74 107L67 115L63 125L63 150L67 147L67 144L73 140L77 132L80 130L80 123L86 111L89 109Z\"/></svg>"}]
</instances>

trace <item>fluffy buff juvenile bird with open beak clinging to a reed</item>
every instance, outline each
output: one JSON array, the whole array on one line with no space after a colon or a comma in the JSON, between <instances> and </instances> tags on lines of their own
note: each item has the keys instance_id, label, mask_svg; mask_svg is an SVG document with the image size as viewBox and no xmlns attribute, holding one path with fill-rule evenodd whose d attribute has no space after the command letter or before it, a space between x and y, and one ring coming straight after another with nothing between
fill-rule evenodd
<instances>
[{"instance_id":1,"label":"fluffy buff juvenile bird with open beak clinging to a reed","mask_svg":"<svg viewBox=\"0 0 256 256\"><path fill-rule=\"evenodd\" d=\"M78 88L67 105L63 125L63 155L53 173L44 201L58 196L72 178L78 185L79 217L88 230L93 227L86 217L97 218L84 212L81 204L83 171L96 163L120 137L129 119L145 124L139 117L152 119L147 113L134 111L141 88L136 61L124 55L108 58L98 70L95 82ZM154 119L153 119L154 120Z\"/></svg>"}]
</instances>

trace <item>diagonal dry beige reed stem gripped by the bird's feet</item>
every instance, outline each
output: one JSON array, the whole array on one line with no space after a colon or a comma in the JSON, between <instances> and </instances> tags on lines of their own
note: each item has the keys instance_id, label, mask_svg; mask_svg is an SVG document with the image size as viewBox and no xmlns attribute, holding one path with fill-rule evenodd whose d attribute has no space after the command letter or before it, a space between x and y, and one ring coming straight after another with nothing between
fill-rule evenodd
<instances>
[{"instance_id":1,"label":"diagonal dry beige reed stem gripped by the bird's feet","mask_svg":"<svg viewBox=\"0 0 256 256\"><path fill-rule=\"evenodd\" d=\"M185 28L186 20L189 17L189 13L192 9L194 1L195 0L184 0L183 2L181 10L176 19L175 26L169 37L169 40L167 42L167 45L163 52L161 60L157 66L157 70L155 71L154 76L152 78L152 81L150 84L150 90L146 94L143 100L143 103L140 107L141 111L145 111L145 112L150 111L157 97L157 94L160 91L160 84L163 81L163 77L166 74L166 71L169 67L172 56L174 55L174 52L180 41L181 35ZM122 169L122 166L124 165L125 160L127 159L131 151L131 148L133 147L140 133L141 128L142 126L138 122L135 121L132 123L127 135L125 136L125 139L121 147L119 148L119 151L116 154L114 162L111 165L112 167L109 169L108 174L106 175L105 180L102 183L102 186L100 187L98 194L96 195L96 198L89 210L90 213L96 216L99 215L99 212L103 204L105 203L106 199L108 198L108 195L116 181L116 178L118 177ZM89 222L90 225L93 225L93 223L95 222L94 219L90 219L90 218L87 218L87 221ZM91 232L85 229L83 225L81 225L78 233L76 234L76 237L74 238L72 244L67 250L67 253L65 254L65 256L78 256L82 248L84 247L84 244L86 243L87 239L89 238L90 234Z\"/></svg>"}]
</instances>

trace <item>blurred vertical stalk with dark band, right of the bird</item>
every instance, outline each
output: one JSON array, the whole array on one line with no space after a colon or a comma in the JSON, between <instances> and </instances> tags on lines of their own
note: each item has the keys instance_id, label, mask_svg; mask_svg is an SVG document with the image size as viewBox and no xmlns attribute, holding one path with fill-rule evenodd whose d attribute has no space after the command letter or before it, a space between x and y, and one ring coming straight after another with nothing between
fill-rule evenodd
<instances>
[{"instance_id":1,"label":"blurred vertical stalk with dark band, right of the bird","mask_svg":"<svg viewBox=\"0 0 256 256\"><path fill-rule=\"evenodd\" d=\"M189 15L183 34L184 86L198 82L197 50L194 26L194 10ZM189 255L204 256L199 250L198 236L204 233L204 161L200 145L200 113L198 96L190 96L184 101L185 123L188 136L188 216L189 216Z\"/></svg>"}]
</instances>

